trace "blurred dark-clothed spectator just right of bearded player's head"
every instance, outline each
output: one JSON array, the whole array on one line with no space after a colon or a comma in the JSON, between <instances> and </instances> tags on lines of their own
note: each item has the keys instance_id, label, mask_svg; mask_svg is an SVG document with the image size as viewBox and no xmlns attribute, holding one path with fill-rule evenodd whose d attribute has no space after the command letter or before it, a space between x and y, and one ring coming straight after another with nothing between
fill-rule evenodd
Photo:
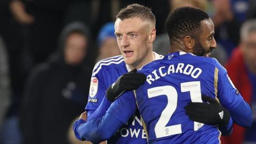
<instances>
[{"instance_id":1,"label":"blurred dark-clothed spectator just right of bearded player's head","mask_svg":"<svg viewBox=\"0 0 256 144\"><path fill-rule=\"evenodd\" d=\"M215 39L228 55L239 43L239 29L245 19L246 0L212 0ZM245 8L244 8L245 7Z\"/></svg>"}]
</instances>

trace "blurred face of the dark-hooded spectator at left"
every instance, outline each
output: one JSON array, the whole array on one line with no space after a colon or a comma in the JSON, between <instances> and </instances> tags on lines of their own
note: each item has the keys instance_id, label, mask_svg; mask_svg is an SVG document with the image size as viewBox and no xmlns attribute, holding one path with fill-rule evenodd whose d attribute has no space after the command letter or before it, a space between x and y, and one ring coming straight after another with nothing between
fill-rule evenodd
<instances>
[{"instance_id":1,"label":"blurred face of the dark-hooded spectator at left","mask_svg":"<svg viewBox=\"0 0 256 144\"><path fill-rule=\"evenodd\" d=\"M86 56L87 38L84 35L73 33L66 39L65 61L68 65L77 65Z\"/></svg>"}]
</instances>

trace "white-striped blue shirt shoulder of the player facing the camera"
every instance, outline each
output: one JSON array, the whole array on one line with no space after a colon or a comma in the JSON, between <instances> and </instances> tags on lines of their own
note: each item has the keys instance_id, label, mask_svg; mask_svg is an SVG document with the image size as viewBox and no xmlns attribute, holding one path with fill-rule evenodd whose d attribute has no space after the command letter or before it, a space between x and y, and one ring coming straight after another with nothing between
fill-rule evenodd
<instances>
[{"instance_id":1,"label":"white-striped blue shirt shoulder of the player facing the camera","mask_svg":"<svg viewBox=\"0 0 256 144\"><path fill-rule=\"evenodd\" d=\"M125 66L123 55L117 55L115 57L110 57L107 59L103 59L98 61L92 71L92 76L97 75L103 70L108 70L112 68L120 68L121 66Z\"/></svg>"}]
</instances>

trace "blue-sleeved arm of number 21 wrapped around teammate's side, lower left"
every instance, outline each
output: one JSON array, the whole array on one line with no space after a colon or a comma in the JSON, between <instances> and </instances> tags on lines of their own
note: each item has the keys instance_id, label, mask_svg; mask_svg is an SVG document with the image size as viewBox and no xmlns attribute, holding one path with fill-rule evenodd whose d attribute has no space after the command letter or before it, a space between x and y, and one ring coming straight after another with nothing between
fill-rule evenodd
<instances>
[{"instance_id":1,"label":"blue-sleeved arm of number 21 wrapped around teammate's side, lower left","mask_svg":"<svg viewBox=\"0 0 256 144\"><path fill-rule=\"evenodd\" d=\"M107 140L132 117L135 108L132 91L126 92L112 103L103 117L87 122L79 119L74 124L75 134L80 140L89 140L93 143Z\"/></svg>"}]
</instances>

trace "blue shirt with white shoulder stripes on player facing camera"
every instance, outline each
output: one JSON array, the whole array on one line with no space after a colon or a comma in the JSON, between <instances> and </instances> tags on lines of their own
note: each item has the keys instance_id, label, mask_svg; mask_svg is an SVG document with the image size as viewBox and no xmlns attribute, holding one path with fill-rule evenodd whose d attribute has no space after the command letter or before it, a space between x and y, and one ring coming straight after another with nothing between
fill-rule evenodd
<instances>
[{"instance_id":1,"label":"blue shirt with white shoulder stripes on player facing camera","mask_svg":"<svg viewBox=\"0 0 256 144\"><path fill-rule=\"evenodd\" d=\"M162 55L155 53L155 59L163 59ZM99 61L93 69L89 100L85 107L88 117L100 106L105 98L105 92L119 76L128 73L129 67L125 64L122 55ZM102 105L103 104L103 105ZM107 106L102 103L103 107ZM108 109L108 107L101 109ZM98 110L95 113L105 114L106 111ZM146 133L143 130L140 113L135 110L133 116L124 122L108 143L147 143Z\"/></svg>"}]
</instances>

